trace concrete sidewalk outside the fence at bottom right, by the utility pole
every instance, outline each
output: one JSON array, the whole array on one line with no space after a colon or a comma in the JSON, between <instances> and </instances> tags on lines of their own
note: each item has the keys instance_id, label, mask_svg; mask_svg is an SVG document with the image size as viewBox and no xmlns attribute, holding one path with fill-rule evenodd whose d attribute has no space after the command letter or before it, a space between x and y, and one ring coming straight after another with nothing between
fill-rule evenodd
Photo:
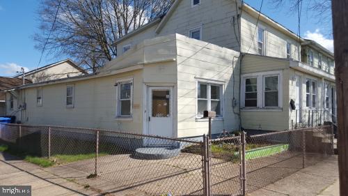
<instances>
[{"instance_id":1,"label":"concrete sidewalk outside the fence at bottom right, by the utility pole","mask_svg":"<svg viewBox=\"0 0 348 196\"><path fill-rule=\"evenodd\" d=\"M333 156L248 195L338 196L338 184L338 157Z\"/></svg>"}]
</instances>

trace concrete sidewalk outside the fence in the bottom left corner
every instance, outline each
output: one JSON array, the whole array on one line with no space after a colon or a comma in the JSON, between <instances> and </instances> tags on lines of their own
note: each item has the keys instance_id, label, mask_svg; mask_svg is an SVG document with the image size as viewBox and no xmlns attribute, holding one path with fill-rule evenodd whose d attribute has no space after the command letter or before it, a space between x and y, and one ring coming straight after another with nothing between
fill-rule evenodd
<instances>
[{"instance_id":1,"label":"concrete sidewalk outside the fence in the bottom left corner","mask_svg":"<svg viewBox=\"0 0 348 196\"><path fill-rule=\"evenodd\" d=\"M0 185L31 186L32 195L98 195L82 185L4 153L0 153Z\"/></svg>"}]
</instances>

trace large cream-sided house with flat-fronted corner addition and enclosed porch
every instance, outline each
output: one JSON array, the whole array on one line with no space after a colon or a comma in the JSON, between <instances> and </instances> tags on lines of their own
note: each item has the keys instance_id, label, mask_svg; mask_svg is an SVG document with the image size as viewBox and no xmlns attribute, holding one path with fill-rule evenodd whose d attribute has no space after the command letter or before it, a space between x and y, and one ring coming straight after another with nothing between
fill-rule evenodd
<instances>
[{"instance_id":1,"label":"large cream-sided house with flat-fronted corner addition and enclosed porch","mask_svg":"<svg viewBox=\"0 0 348 196\"><path fill-rule=\"evenodd\" d=\"M238 0L174 1L114 45L122 54L95 75L8 89L24 93L22 122L195 137L204 110L216 134L334 115L333 54Z\"/></svg>"}]
</instances>

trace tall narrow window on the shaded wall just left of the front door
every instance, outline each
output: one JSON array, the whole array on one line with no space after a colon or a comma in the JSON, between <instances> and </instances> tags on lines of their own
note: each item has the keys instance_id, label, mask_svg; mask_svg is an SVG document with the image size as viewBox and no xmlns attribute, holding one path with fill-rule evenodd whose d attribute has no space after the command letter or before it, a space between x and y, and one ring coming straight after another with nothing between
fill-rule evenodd
<instances>
[{"instance_id":1,"label":"tall narrow window on the shaded wall just left of the front door","mask_svg":"<svg viewBox=\"0 0 348 196\"><path fill-rule=\"evenodd\" d=\"M129 117L132 116L132 94L133 94L133 82L125 81L118 82L118 110L117 116Z\"/></svg>"}]
</instances>

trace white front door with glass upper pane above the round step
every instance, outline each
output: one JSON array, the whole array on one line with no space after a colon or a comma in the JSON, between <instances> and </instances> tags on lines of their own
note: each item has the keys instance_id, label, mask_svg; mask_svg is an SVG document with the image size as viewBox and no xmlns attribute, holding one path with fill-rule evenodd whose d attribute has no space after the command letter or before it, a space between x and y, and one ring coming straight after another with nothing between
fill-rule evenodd
<instances>
[{"instance_id":1,"label":"white front door with glass upper pane above the round step","mask_svg":"<svg viewBox=\"0 0 348 196\"><path fill-rule=\"evenodd\" d=\"M173 88L148 87L148 134L173 137L172 111Z\"/></svg>"}]
</instances>

